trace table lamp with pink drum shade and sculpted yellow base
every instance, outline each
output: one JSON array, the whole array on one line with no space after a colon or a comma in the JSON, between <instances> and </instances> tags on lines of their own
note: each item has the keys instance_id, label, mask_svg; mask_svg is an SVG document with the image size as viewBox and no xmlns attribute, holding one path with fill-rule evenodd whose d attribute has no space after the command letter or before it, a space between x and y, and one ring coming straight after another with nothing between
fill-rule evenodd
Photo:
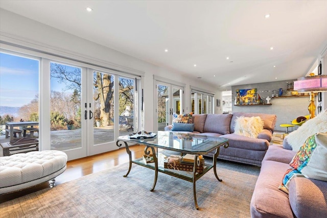
<instances>
[{"instance_id":1,"label":"table lamp with pink drum shade and sculpted yellow base","mask_svg":"<svg viewBox=\"0 0 327 218\"><path fill-rule=\"evenodd\" d=\"M315 94L314 92L327 91L327 75L310 74L309 77L298 78L294 81L294 90L299 93L310 92L310 104L308 110L310 112L310 119L315 117Z\"/></svg>"}]
</instances>

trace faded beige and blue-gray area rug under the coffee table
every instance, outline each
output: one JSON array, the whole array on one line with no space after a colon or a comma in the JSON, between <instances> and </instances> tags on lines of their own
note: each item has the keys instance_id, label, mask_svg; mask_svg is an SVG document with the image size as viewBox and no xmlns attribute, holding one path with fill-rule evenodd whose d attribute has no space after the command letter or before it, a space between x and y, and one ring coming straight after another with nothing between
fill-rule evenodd
<instances>
[{"instance_id":1,"label":"faded beige and blue-gray area rug under the coffee table","mask_svg":"<svg viewBox=\"0 0 327 218\"><path fill-rule=\"evenodd\" d=\"M153 192L154 171L128 164L84 176L0 204L0 217L250 217L250 200L260 168L218 161L196 183L162 173Z\"/></svg>"}]
</instances>

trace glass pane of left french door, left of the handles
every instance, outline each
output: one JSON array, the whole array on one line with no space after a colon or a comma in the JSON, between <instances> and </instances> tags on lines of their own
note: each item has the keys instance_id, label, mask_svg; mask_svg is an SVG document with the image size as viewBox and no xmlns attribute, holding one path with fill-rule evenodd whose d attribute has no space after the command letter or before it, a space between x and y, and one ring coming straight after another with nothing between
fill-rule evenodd
<instances>
[{"instance_id":1,"label":"glass pane of left french door, left of the handles","mask_svg":"<svg viewBox=\"0 0 327 218\"><path fill-rule=\"evenodd\" d=\"M51 150L82 148L81 71L50 62Z\"/></svg>"}]
</instances>

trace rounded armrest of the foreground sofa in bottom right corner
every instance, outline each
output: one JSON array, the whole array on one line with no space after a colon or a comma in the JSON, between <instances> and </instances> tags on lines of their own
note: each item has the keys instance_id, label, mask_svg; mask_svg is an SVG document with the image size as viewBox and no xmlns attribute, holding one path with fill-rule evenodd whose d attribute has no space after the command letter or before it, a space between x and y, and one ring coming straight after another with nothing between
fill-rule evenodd
<instances>
[{"instance_id":1,"label":"rounded armrest of the foreground sofa in bottom right corner","mask_svg":"<svg viewBox=\"0 0 327 218\"><path fill-rule=\"evenodd\" d=\"M327 182L308 178L293 178L289 200L296 217L327 217Z\"/></svg>"}]
</instances>

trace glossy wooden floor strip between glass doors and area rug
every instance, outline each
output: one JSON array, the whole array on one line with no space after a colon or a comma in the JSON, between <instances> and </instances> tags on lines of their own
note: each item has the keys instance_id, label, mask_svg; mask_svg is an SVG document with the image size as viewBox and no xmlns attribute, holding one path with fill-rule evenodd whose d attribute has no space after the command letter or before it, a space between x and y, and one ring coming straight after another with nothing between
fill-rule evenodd
<instances>
[{"instance_id":1,"label":"glossy wooden floor strip between glass doors and area rug","mask_svg":"<svg viewBox=\"0 0 327 218\"><path fill-rule=\"evenodd\" d=\"M142 157L144 155L145 146L135 145L130 146L129 150L132 153L132 159ZM121 148L119 150L106 152L99 155L89 156L77 160L72 160L67 162L67 168L64 173L59 175L56 178L56 185L62 184L64 182L68 182L74 179L78 179L82 176L86 176L88 174L97 173L103 171L104 169L108 169L114 167L116 165L120 165L123 163L127 163L129 161L128 154L126 153L125 148ZM17 191L14 193L9 193L6 195L0 196L0 203L5 201L9 201L24 195L28 195L29 193L48 188L49 182L44 182L40 185L37 185L32 188L28 188L25 190ZM55 187L54 187L55 188Z\"/></svg>"}]
</instances>

